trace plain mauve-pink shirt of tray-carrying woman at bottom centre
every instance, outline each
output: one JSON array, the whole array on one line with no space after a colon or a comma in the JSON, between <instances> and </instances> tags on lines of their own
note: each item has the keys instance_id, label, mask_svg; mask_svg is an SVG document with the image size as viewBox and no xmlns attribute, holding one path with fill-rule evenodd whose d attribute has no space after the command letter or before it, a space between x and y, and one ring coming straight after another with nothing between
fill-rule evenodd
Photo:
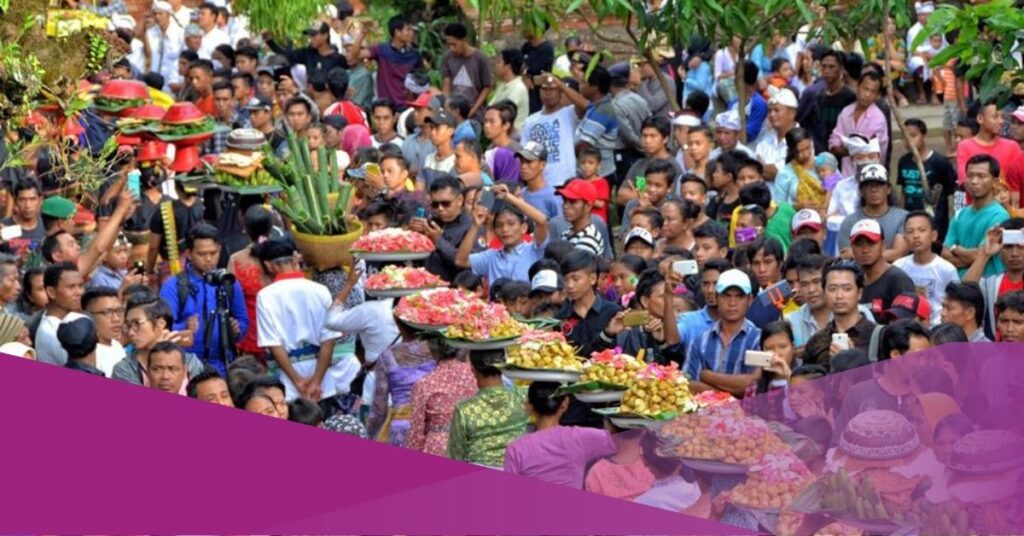
<instances>
[{"instance_id":1,"label":"plain mauve-pink shirt of tray-carrying woman at bottom centre","mask_svg":"<svg viewBox=\"0 0 1024 536\"><path fill-rule=\"evenodd\" d=\"M614 453L615 444L603 429L555 426L509 444L505 472L582 490L587 464Z\"/></svg>"}]
</instances>

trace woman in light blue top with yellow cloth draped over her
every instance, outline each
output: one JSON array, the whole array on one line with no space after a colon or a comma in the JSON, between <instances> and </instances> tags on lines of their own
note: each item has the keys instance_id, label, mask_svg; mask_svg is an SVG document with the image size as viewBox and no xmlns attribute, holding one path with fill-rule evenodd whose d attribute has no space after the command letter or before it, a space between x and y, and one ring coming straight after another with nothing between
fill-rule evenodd
<instances>
[{"instance_id":1,"label":"woman in light blue top with yellow cloth draped over her","mask_svg":"<svg viewBox=\"0 0 1024 536\"><path fill-rule=\"evenodd\" d=\"M825 189L814 170L814 140L810 132L794 128L785 134L785 167L775 177L772 201L797 210L825 208Z\"/></svg>"}]
</instances>

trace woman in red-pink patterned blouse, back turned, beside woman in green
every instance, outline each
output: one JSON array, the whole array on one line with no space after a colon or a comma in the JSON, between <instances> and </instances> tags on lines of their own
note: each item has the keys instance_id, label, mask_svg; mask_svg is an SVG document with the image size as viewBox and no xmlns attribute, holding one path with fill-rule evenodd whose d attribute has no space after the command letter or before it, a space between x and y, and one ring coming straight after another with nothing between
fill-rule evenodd
<instances>
[{"instance_id":1,"label":"woman in red-pink patterned blouse, back turned, beside woman in green","mask_svg":"<svg viewBox=\"0 0 1024 536\"><path fill-rule=\"evenodd\" d=\"M476 378L473 368L455 348L438 342L431 349L437 367L413 387L406 448L445 456L455 405L476 395Z\"/></svg>"}]
</instances>

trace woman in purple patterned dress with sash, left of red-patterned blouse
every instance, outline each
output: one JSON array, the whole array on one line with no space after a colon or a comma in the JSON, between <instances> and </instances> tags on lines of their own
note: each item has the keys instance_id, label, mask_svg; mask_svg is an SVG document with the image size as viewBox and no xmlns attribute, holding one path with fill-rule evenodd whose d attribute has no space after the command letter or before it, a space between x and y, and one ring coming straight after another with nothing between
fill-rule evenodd
<instances>
[{"instance_id":1,"label":"woman in purple patterned dress with sash, left of red-patterned blouse","mask_svg":"<svg viewBox=\"0 0 1024 536\"><path fill-rule=\"evenodd\" d=\"M430 346L416 337L413 328L397 319L395 324L401 341L381 353L374 367L374 395L367 431L377 441L402 447L413 416L413 386L433 372L437 362Z\"/></svg>"}]
</instances>

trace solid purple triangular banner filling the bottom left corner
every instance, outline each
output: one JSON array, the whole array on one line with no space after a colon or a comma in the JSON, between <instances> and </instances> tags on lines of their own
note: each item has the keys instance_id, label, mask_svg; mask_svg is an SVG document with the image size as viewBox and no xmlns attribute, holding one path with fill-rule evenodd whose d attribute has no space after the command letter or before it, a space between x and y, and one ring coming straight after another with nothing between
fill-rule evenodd
<instances>
[{"instance_id":1,"label":"solid purple triangular banner filling the bottom left corner","mask_svg":"<svg viewBox=\"0 0 1024 536\"><path fill-rule=\"evenodd\" d=\"M0 532L744 534L0 357Z\"/></svg>"}]
</instances>

